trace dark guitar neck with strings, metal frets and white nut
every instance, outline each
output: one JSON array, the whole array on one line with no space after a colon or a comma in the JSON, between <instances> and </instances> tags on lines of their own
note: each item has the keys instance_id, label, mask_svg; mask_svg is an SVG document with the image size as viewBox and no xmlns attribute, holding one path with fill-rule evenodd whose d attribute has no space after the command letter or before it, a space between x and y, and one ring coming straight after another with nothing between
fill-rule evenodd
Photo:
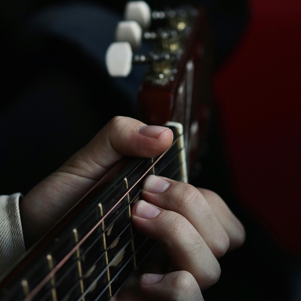
<instances>
[{"instance_id":1,"label":"dark guitar neck with strings, metal frets and white nut","mask_svg":"<svg viewBox=\"0 0 301 301\"><path fill-rule=\"evenodd\" d=\"M149 174L185 175L183 129L153 159L133 159L103 189L87 194L0 284L1 300L109 300L153 249L130 212Z\"/></svg>"}]
</instances>

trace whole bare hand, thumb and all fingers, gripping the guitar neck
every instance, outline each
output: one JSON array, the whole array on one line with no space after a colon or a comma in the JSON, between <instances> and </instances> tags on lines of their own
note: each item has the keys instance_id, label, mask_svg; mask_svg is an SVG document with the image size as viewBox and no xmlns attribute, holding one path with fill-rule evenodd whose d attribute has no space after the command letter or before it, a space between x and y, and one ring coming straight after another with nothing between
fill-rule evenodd
<instances>
[{"instance_id":1,"label":"whole bare hand, thumb and all fingers, gripping the guitar neck","mask_svg":"<svg viewBox=\"0 0 301 301\"><path fill-rule=\"evenodd\" d=\"M126 130L125 130L126 129ZM173 133L128 117L114 117L20 204L27 245L35 242L124 156L154 157L171 145ZM170 258L168 270L144 273L115 300L202 300L201 290L220 276L218 258L241 245L244 229L215 193L149 176L132 222L158 240Z\"/></svg>"}]
</instances>

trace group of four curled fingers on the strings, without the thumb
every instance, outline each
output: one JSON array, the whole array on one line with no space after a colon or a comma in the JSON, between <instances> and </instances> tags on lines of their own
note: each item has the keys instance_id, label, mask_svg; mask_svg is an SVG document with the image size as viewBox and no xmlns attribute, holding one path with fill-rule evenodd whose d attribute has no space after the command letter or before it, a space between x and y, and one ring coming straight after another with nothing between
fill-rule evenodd
<instances>
[{"instance_id":1,"label":"group of four curled fingers on the strings, without the thumb","mask_svg":"<svg viewBox=\"0 0 301 301\"><path fill-rule=\"evenodd\" d=\"M203 300L201 290L220 276L217 261L244 241L244 228L214 192L148 176L143 200L132 208L132 222L165 247L170 273L143 274L141 292L152 300ZM116 301L146 300L124 290Z\"/></svg>"}]
</instances>

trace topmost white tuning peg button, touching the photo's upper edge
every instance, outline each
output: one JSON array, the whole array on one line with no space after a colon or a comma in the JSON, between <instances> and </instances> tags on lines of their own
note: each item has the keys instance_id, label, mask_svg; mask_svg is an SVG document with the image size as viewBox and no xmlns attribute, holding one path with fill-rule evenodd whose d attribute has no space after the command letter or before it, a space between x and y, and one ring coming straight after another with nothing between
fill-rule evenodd
<instances>
[{"instance_id":1,"label":"topmost white tuning peg button, touching the photo's upper edge","mask_svg":"<svg viewBox=\"0 0 301 301\"><path fill-rule=\"evenodd\" d=\"M127 21L136 21L142 29L150 26L151 11L144 1L130 1L125 6L124 19Z\"/></svg>"}]
</instances>

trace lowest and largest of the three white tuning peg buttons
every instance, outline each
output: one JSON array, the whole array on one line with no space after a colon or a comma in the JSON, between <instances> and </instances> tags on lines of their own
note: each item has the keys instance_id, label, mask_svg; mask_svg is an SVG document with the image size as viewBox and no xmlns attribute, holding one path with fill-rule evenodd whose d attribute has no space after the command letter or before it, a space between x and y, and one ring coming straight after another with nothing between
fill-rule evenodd
<instances>
[{"instance_id":1,"label":"lowest and largest of the three white tuning peg buttons","mask_svg":"<svg viewBox=\"0 0 301 301\"><path fill-rule=\"evenodd\" d=\"M108 73L114 77L127 76L131 71L132 57L132 50L128 42L112 43L105 55Z\"/></svg>"}]
</instances>

